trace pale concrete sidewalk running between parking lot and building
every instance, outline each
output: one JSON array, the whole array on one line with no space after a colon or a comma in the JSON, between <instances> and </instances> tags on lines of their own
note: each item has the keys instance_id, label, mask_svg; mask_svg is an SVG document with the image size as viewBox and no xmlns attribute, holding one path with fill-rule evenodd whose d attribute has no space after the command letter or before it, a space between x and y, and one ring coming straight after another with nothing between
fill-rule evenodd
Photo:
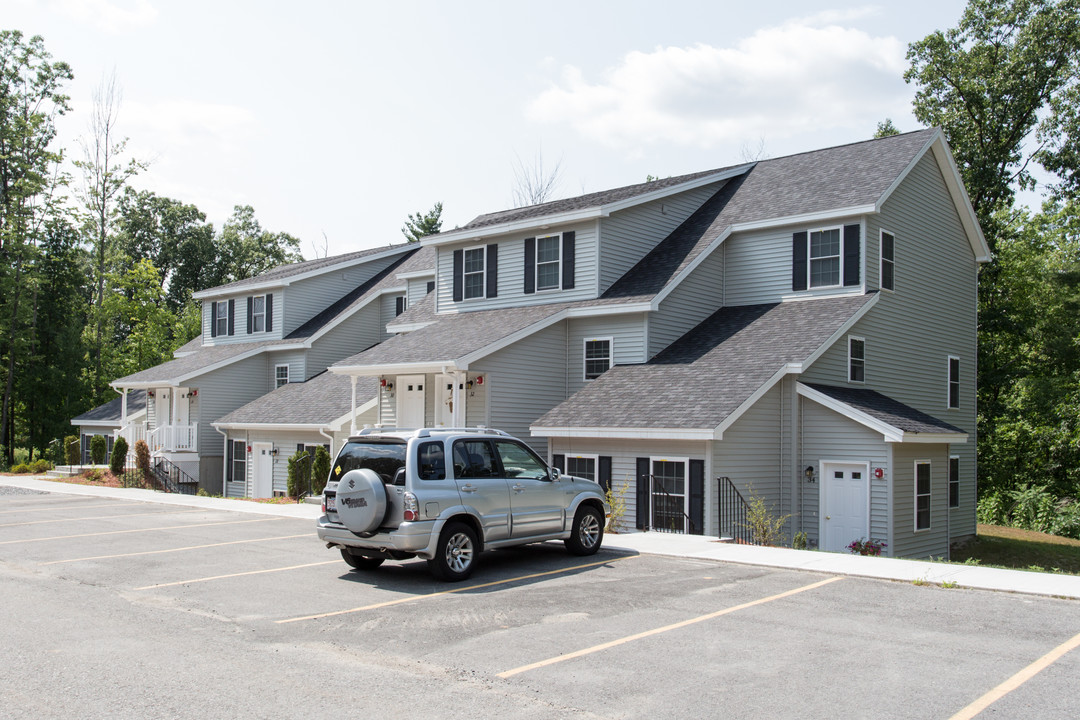
<instances>
[{"instance_id":1,"label":"pale concrete sidewalk running between parking lot and building","mask_svg":"<svg viewBox=\"0 0 1080 720\"><path fill-rule=\"evenodd\" d=\"M125 488L103 488L70 483L56 483L42 477L0 477L0 485L54 492L58 494L94 495L138 500L144 502L189 507L205 507L233 513L274 515L314 520L320 515L319 505L289 504L271 505L245 500L222 498L200 498ZM312 531L313 532L313 531ZM1080 599L1080 575L1059 575L1025 570L1001 570L978 566L901 560L881 557L861 557L839 553L818 553L794 551L786 547L757 547L718 542L715 538L684 535L666 532L627 532L607 534L605 549L624 551L646 555L667 555L690 557L740 565L756 565L788 570L808 570L856 578L876 578L900 582L922 582L940 585L956 583L958 587L970 587L1005 593L1025 593L1054 597Z\"/></svg>"}]
</instances>

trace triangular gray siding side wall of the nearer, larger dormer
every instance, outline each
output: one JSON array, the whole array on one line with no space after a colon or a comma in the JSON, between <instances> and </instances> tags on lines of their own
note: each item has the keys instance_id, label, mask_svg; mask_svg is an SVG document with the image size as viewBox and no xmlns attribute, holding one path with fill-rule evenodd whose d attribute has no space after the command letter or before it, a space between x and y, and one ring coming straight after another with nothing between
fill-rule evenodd
<instances>
[{"instance_id":1,"label":"triangular gray siding side wall of the nearer, larger dormer","mask_svg":"<svg viewBox=\"0 0 1080 720\"><path fill-rule=\"evenodd\" d=\"M724 182L714 182L603 218L599 291L604 293L626 274L721 187Z\"/></svg>"}]
</instances>

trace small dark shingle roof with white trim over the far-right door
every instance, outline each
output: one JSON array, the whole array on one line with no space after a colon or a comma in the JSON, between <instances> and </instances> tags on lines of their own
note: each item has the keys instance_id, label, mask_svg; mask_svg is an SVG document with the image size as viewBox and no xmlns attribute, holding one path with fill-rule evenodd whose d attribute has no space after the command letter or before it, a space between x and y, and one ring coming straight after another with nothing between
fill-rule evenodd
<instances>
[{"instance_id":1,"label":"small dark shingle roof with white trim over the far-right door","mask_svg":"<svg viewBox=\"0 0 1080 720\"><path fill-rule=\"evenodd\" d=\"M891 443L964 443L968 433L866 388L799 383L804 397L882 434Z\"/></svg>"}]
</instances>

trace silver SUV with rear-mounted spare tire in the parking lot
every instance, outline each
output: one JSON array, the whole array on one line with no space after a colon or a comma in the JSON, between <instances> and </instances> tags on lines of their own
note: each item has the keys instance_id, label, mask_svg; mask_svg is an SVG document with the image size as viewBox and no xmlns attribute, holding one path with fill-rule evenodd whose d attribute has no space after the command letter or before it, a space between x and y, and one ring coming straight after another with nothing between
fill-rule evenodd
<instances>
[{"instance_id":1,"label":"silver SUV with rear-mounted spare tire in the parking lot","mask_svg":"<svg viewBox=\"0 0 1080 720\"><path fill-rule=\"evenodd\" d=\"M319 538L356 570L422 557L458 581L496 547L562 540L592 555L609 512L596 483L549 468L502 431L367 429L334 461Z\"/></svg>"}]
</instances>

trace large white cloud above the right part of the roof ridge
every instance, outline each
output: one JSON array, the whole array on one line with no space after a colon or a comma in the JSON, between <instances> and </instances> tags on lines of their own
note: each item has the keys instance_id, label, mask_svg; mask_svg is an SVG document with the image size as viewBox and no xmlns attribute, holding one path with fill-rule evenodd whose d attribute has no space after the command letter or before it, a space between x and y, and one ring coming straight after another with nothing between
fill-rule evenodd
<instances>
[{"instance_id":1,"label":"large white cloud above the right part of the roof ridge","mask_svg":"<svg viewBox=\"0 0 1080 720\"><path fill-rule=\"evenodd\" d=\"M905 44L841 27L839 19L819 14L788 21L733 47L635 51L595 82L567 65L527 112L627 149L659 142L712 148L761 136L865 130L903 114L910 98L902 78Z\"/></svg>"}]
</instances>

